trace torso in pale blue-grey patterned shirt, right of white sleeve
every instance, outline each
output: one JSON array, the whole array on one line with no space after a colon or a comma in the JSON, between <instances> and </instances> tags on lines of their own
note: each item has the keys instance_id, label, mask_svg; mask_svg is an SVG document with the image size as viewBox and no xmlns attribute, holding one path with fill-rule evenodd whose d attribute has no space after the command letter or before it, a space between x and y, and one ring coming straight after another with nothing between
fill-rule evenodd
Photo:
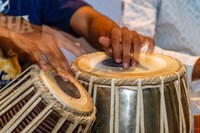
<instances>
[{"instance_id":1,"label":"torso in pale blue-grey patterned shirt, right of white sleeve","mask_svg":"<svg viewBox=\"0 0 200 133\"><path fill-rule=\"evenodd\" d=\"M200 1L161 0L158 12L156 45L200 55Z\"/></svg>"}]
</instances>

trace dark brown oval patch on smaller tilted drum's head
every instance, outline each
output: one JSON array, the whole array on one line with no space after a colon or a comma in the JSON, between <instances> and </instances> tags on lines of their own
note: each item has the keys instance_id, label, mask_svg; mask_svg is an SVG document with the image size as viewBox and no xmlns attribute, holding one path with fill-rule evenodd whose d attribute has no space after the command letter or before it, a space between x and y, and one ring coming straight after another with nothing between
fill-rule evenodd
<instances>
[{"instance_id":1,"label":"dark brown oval patch on smaller tilted drum's head","mask_svg":"<svg viewBox=\"0 0 200 133\"><path fill-rule=\"evenodd\" d=\"M58 86L69 96L79 99L81 97L80 92L76 88L74 84L72 84L68 80L63 80L63 78L59 75L55 76L55 80Z\"/></svg>"}]
</instances>

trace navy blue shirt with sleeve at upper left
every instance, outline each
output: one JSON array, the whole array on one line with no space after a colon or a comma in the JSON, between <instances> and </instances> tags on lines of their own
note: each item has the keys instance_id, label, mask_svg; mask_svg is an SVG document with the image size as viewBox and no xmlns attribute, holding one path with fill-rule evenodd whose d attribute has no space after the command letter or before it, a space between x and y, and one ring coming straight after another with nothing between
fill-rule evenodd
<instances>
[{"instance_id":1,"label":"navy blue shirt with sleeve at upper left","mask_svg":"<svg viewBox=\"0 0 200 133\"><path fill-rule=\"evenodd\" d=\"M70 19L78 8L85 5L88 4L82 0L0 0L0 12L76 35L70 29Z\"/></svg>"}]
</instances>

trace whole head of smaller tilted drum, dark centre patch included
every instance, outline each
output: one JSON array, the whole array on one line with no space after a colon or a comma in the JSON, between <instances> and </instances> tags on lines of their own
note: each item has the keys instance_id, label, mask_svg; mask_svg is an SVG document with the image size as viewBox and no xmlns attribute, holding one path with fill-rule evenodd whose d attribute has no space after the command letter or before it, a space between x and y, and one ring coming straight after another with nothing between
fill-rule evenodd
<instances>
[{"instance_id":1,"label":"whole head of smaller tilted drum, dark centre patch included","mask_svg":"<svg viewBox=\"0 0 200 133\"><path fill-rule=\"evenodd\" d=\"M40 72L41 78L52 95L64 108L74 113L90 114L93 111L93 101L85 88L79 83L64 81L55 71Z\"/></svg>"}]
</instances>

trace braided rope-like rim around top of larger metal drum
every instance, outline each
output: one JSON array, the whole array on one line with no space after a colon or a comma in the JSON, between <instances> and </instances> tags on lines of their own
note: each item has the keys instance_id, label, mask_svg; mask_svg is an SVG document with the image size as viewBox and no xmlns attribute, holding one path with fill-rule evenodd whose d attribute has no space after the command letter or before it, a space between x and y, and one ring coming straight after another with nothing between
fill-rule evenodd
<instances>
[{"instance_id":1,"label":"braided rope-like rim around top of larger metal drum","mask_svg":"<svg viewBox=\"0 0 200 133\"><path fill-rule=\"evenodd\" d=\"M93 52L88 55L95 54L95 53L103 53L103 52ZM155 54L158 54L158 53L155 53ZM163 54L158 54L158 55L166 56ZM83 55L83 56L75 59L72 63L71 69L72 69L73 73L76 74L77 78L87 81L87 82L90 82L90 78L92 77L93 83L97 83L97 84L102 82L105 85L110 85L112 80L115 80L116 85L133 86L133 85L137 85L138 80L140 80L142 85L145 85L145 84L155 85L155 84L160 84L161 77L164 78L164 83L166 83L166 82L171 82L171 81L177 80L178 79L177 73L179 74L180 77L183 77L186 74L186 67L183 63L181 63L176 58L166 56L168 58L171 58L171 59L177 61L177 63L180 65L180 68L173 73L168 73L165 75L156 75L156 76L152 76L152 77L137 76L137 77L133 77L133 78L130 78L130 77L128 77L128 78L117 77L116 78L116 77L102 76L102 75L97 75L92 72L87 72L87 71L81 69L80 67L78 67L77 62L80 59L84 58L85 56L87 56L87 55Z\"/></svg>"}]
</instances>

